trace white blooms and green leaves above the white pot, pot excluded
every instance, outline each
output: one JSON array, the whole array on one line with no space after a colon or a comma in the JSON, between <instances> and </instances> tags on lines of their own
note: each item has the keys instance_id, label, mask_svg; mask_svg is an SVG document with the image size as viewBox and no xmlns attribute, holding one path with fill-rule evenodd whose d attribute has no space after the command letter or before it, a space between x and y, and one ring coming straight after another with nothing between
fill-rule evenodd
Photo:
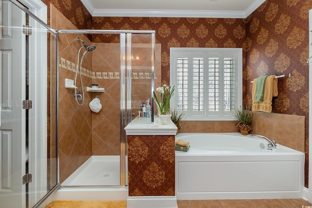
<instances>
[{"instance_id":1,"label":"white blooms and green leaves above the white pot, pot excluded","mask_svg":"<svg viewBox=\"0 0 312 208\"><path fill-rule=\"evenodd\" d=\"M175 86L171 88L171 86L164 84L162 85L162 87L156 88L156 91L158 92L158 95L160 94L159 96L160 99L157 98L155 91L153 92L153 94L154 94L156 104L160 110L160 114L162 115L169 114L170 99L172 95L174 95Z\"/></svg>"}]
</instances>

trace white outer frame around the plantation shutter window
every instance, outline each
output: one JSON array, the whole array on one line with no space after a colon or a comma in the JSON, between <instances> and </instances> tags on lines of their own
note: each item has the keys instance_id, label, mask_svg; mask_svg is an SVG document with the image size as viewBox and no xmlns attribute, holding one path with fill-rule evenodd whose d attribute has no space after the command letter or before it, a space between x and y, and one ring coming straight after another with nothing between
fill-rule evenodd
<instances>
[{"instance_id":1,"label":"white outer frame around the plantation shutter window","mask_svg":"<svg viewBox=\"0 0 312 208\"><path fill-rule=\"evenodd\" d=\"M243 50L242 48L170 48L170 86L176 86L177 81L177 57L178 55L187 56L187 57L194 57L198 54L201 56L207 56L210 55L219 55L221 58L223 55L229 55L231 54L235 59L235 108L242 106L242 89L243 89L243 78L242 78L242 71L243 71ZM193 59L188 61L188 64L193 64ZM188 69L192 69L191 66L188 67ZM189 70L189 77L191 77L191 73ZM191 79L189 79L191 80ZM206 79L204 78L204 81ZM220 86L223 87L223 80L220 80ZM176 90L175 90L176 91ZM188 86L188 92L191 92L192 88L191 85ZM204 93L206 95L206 93ZM204 97L205 97L204 95ZM177 93L174 94L174 96L171 99L170 106L171 109L176 108L177 103ZM190 100L190 97L189 97ZM205 99L206 100L206 99ZM189 101L189 105L190 105ZM190 109L190 107L189 107ZM193 112L185 112L186 118L185 120L189 121L222 121L222 120L235 120L234 116L231 112L224 112L222 109L220 109L220 113L211 113L208 112L207 109L204 108L204 111L202 113L193 113ZM210 113L210 114L208 114Z\"/></svg>"}]
</instances>

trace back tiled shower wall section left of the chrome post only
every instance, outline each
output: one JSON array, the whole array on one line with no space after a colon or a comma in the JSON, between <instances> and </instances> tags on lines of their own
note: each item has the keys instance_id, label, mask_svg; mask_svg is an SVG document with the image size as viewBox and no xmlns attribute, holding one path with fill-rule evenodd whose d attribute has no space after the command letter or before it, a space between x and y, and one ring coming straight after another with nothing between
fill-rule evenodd
<instances>
[{"instance_id":1,"label":"back tiled shower wall section left of the chrome post only","mask_svg":"<svg viewBox=\"0 0 312 208\"><path fill-rule=\"evenodd\" d=\"M120 154L120 124L119 124L119 63L120 48L117 43L95 43L97 51L93 54L93 71L95 77L92 83L104 88L99 95L102 109L92 113L92 154Z\"/></svg>"}]
</instances>

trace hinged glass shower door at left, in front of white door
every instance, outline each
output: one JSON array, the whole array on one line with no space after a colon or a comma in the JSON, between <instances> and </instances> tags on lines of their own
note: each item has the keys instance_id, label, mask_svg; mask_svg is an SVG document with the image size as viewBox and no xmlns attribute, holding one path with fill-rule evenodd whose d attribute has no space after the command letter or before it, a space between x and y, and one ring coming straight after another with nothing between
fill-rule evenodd
<instances>
[{"instance_id":1,"label":"hinged glass shower door at left, in front of white door","mask_svg":"<svg viewBox=\"0 0 312 208\"><path fill-rule=\"evenodd\" d=\"M56 89L47 85L57 35L14 0L0 10L0 208L34 207L58 180Z\"/></svg>"}]
</instances>

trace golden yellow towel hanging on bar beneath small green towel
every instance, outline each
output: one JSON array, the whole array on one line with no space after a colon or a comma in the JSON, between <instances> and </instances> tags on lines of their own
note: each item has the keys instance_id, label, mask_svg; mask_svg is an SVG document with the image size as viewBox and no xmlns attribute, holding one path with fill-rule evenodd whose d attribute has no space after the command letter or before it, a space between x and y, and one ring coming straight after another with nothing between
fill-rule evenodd
<instances>
[{"instance_id":1,"label":"golden yellow towel hanging on bar beneath small green towel","mask_svg":"<svg viewBox=\"0 0 312 208\"><path fill-rule=\"evenodd\" d=\"M256 82L257 82L257 79L254 79L253 93L252 93L252 99L253 99L252 110L271 113L272 112L272 97L276 97L278 95L277 78L275 78L275 75L271 75L266 78L263 102L254 101Z\"/></svg>"}]
</instances>

